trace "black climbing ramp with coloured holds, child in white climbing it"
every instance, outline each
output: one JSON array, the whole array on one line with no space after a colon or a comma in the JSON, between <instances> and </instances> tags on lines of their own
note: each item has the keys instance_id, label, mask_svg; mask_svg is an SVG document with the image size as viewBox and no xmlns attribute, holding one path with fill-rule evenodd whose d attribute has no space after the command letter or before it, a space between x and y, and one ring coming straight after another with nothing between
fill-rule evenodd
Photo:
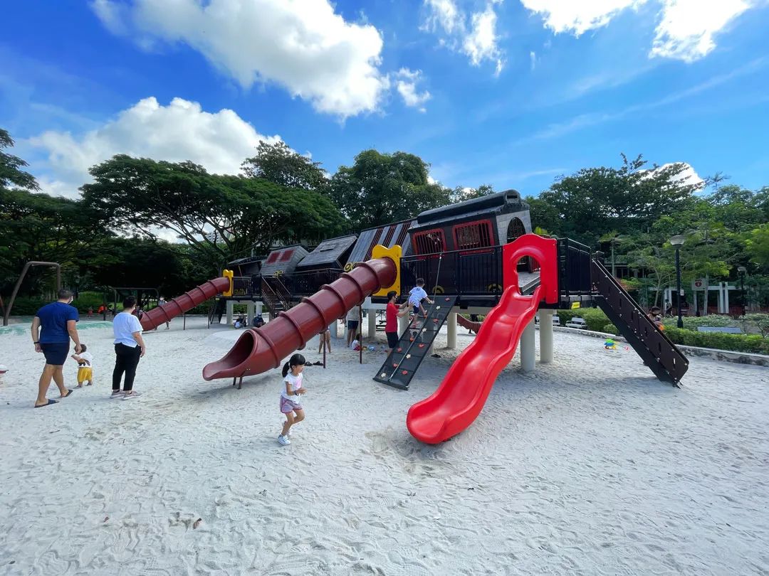
<instances>
[{"instance_id":1,"label":"black climbing ramp with coloured holds, child in white climbing it","mask_svg":"<svg viewBox=\"0 0 769 576\"><path fill-rule=\"evenodd\" d=\"M441 326L444 325L458 296L436 296L434 304L427 307L428 316L414 316L408 329L401 335L398 346L390 353L374 379L382 384L408 390L424 356Z\"/></svg>"}]
</instances>

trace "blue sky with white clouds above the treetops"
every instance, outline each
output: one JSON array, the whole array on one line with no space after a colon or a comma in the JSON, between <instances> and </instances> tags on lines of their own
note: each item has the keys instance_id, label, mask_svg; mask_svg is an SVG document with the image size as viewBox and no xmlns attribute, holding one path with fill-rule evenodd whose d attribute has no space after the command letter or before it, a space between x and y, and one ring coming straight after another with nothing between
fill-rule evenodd
<instances>
[{"instance_id":1,"label":"blue sky with white clouds above the treetops","mask_svg":"<svg viewBox=\"0 0 769 576\"><path fill-rule=\"evenodd\" d=\"M280 138L333 173L408 151L538 194L619 154L769 185L765 0L13 2L0 126L44 190L112 154L235 174Z\"/></svg>"}]
</instances>

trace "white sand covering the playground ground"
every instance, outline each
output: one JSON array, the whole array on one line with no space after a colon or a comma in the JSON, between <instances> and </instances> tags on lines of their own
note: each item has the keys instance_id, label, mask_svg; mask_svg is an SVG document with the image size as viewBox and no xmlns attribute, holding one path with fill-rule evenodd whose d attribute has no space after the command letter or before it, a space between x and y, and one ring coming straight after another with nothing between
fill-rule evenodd
<instances>
[{"instance_id":1,"label":"white sand covering the playground ground","mask_svg":"<svg viewBox=\"0 0 769 576\"><path fill-rule=\"evenodd\" d=\"M514 359L432 447L405 415L458 351L402 392L371 380L383 353L335 347L284 448L278 372L205 382L238 333L171 326L146 336L145 396L108 399L111 331L88 329L97 386L43 409L42 356L0 335L0 574L769 572L766 369L692 358L679 390L556 333L553 364Z\"/></svg>"}]
</instances>

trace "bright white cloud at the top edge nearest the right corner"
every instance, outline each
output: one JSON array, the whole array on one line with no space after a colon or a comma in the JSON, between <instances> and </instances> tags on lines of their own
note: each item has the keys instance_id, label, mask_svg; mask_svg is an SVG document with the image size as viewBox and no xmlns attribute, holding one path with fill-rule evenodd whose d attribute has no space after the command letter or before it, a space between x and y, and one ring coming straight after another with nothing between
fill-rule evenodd
<instances>
[{"instance_id":1,"label":"bright white cloud at the top edge nearest the right corner","mask_svg":"<svg viewBox=\"0 0 769 576\"><path fill-rule=\"evenodd\" d=\"M663 0L662 21L650 56L693 62L716 47L714 35L754 5L748 0Z\"/></svg>"}]
</instances>

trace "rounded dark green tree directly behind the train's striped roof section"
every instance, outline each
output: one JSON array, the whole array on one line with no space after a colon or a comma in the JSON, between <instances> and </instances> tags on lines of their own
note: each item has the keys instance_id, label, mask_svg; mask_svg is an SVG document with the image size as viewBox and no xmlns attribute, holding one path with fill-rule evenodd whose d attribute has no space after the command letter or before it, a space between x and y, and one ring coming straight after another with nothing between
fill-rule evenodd
<instances>
[{"instance_id":1,"label":"rounded dark green tree directly behind the train's striped roof section","mask_svg":"<svg viewBox=\"0 0 769 576\"><path fill-rule=\"evenodd\" d=\"M428 181L428 164L406 152L366 150L331 178L331 198L351 230L408 220L451 204L451 190Z\"/></svg>"}]
</instances>

